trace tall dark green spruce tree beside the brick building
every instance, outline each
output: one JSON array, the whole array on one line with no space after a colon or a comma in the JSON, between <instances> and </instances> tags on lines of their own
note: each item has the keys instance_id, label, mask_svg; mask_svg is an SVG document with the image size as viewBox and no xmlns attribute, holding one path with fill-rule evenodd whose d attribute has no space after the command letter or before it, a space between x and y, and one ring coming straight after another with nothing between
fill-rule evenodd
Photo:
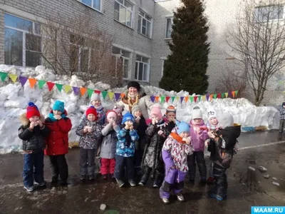
<instances>
[{"instance_id":1,"label":"tall dark green spruce tree beside the brick building","mask_svg":"<svg viewBox=\"0 0 285 214\"><path fill-rule=\"evenodd\" d=\"M174 13L172 41L168 44L172 53L165 60L160 88L203 94L208 87L207 18L200 0L182 3L184 6Z\"/></svg>"}]
</instances>

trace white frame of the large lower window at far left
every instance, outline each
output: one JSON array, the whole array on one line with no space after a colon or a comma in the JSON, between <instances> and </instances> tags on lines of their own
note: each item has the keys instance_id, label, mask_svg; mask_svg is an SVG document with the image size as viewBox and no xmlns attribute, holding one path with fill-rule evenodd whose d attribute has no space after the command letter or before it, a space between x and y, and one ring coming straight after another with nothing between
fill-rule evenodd
<instances>
[{"instance_id":1,"label":"white frame of the large lower window at far left","mask_svg":"<svg viewBox=\"0 0 285 214\"><path fill-rule=\"evenodd\" d=\"M18 29L18 28L13 27L13 26L6 26L6 24L5 24L5 14L17 17L19 19L23 19L25 21L30 21L32 23L32 31L29 32L29 31L26 31L24 29ZM22 44L22 52L23 53L22 53L22 65L21 65L23 67L26 67L26 51L30 51L30 52L33 52L33 53L39 53L40 54L39 66L43 64L43 58L41 56L41 51L43 50L42 37L41 37L41 32L39 34L38 34L38 32L36 32L36 24L39 24L39 23L35 22L35 21L31 21L29 19L22 18L21 16L16 16L14 14L10 14L10 13L4 12L4 32L5 32L5 29L12 29L14 31L20 31L23 34L23 44ZM41 26L41 24L39 24L39 25ZM26 34L31 34L33 36L39 36L41 38L41 51L40 52L38 52L38 51L31 51L31 50L27 50L26 49ZM4 38L4 49L5 49L5 38ZM31 66L28 66L28 67L31 67ZM31 67L31 68L34 68L34 67Z\"/></svg>"}]
</instances>

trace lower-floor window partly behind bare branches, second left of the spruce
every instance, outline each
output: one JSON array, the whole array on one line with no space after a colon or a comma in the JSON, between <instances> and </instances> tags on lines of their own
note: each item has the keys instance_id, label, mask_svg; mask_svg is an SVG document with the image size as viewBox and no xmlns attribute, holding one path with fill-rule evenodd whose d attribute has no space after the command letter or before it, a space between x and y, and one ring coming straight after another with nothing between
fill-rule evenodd
<instances>
[{"instance_id":1,"label":"lower-floor window partly behind bare branches, second left of the spruce","mask_svg":"<svg viewBox=\"0 0 285 214\"><path fill-rule=\"evenodd\" d=\"M115 56L116 64L120 62L123 68L123 78L129 79L130 73L130 52L113 47L113 55Z\"/></svg>"}]
</instances>

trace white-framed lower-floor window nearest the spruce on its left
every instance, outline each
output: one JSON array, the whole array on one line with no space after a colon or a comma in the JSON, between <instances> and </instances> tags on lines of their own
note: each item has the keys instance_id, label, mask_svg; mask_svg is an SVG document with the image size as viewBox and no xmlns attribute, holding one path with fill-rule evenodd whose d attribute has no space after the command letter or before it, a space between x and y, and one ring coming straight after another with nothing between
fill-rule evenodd
<instances>
[{"instance_id":1,"label":"white-framed lower-floor window nearest the spruce on its left","mask_svg":"<svg viewBox=\"0 0 285 214\"><path fill-rule=\"evenodd\" d=\"M148 71L150 68L149 58L138 56L135 60L135 79L138 81L148 81Z\"/></svg>"}]
</instances>

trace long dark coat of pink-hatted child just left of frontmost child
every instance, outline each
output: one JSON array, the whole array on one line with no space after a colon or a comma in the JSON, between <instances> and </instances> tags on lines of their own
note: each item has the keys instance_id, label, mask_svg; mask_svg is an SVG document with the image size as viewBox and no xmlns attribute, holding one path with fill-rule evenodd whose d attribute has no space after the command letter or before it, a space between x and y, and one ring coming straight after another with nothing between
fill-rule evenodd
<instances>
[{"instance_id":1,"label":"long dark coat of pink-hatted child just left of frontmost child","mask_svg":"<svg viewBox=\"0 0 285 214\"><path fill-rule=\"evenodd\" d=\"M160 168L163 165L161 151L163 143L166 140L166 128L163 124L165 124L164 120L159 121L155 125L151 123L145 131L148 140L145 145L145 153L142 158L142 168L145 166L149 168ZM158 131L160 130L164 132L162 136L158 134Z\"/></svg>"}]
</instances>

